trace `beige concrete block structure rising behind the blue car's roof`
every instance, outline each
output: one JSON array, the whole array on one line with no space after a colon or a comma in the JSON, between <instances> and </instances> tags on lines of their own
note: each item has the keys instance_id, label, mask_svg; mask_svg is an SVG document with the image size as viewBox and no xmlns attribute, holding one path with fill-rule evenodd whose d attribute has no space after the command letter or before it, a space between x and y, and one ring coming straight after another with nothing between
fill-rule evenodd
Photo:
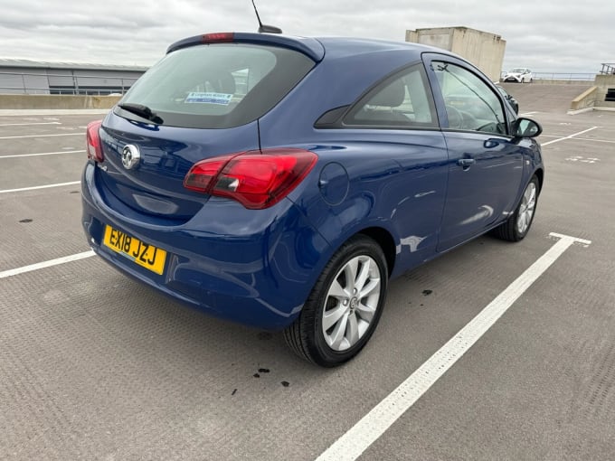
<instances>
[{"instance_id":1,"label":"beige concrete block structure rising behind the blue car's roof","mask_svg":"<svg viewBox=\"0 0 615 461\"><path fill-rule=\"evenodd\" d=\"M437 46L472 62L493 81L498 81L504 62L506 40L500 35L468 27L435 27L406 31L406 42Z\"/></svg>"}]
</instances>

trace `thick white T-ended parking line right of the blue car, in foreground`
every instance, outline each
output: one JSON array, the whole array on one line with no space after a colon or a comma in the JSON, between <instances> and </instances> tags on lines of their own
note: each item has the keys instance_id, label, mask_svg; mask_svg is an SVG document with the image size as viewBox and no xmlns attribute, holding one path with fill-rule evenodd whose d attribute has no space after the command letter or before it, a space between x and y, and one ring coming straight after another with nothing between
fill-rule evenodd
<instances>
[{"instance_id":1,"label":"thick white T-ended parking line right of the blue car, in foreground","mask_svg":"<svg viewBox=\"0 0 615 461\"><path fill-rule=\"evenodd\" d=\"M424 362L416 372L413 372L406 381L403 381L353 428L350 428L322 455L318 456L317 461L353 461L361 456L365 449L382 436L387 428L390 428L407 409L410 409L414 402L419 400L497 322L497 319L515 303L519 296L525 293L527 288L532 286L555 260L562 256L572 243L591 244L590 240L577 239L568 235L551 233L551 236L560 240L506 287L448 343L434 353L427 362Z\"/></svg>"}]
</instances>

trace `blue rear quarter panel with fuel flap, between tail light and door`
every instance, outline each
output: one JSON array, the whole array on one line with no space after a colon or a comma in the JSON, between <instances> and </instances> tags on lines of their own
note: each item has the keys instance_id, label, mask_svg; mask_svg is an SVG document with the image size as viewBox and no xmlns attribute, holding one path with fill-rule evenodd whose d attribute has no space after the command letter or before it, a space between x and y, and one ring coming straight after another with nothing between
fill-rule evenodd
<instances>
[{"instance_id":1,"label":"blue rear quarter panel with fuel flap, between tail light and door","mask_svg":"<svg viewBox=\"0 0 615 461\"><path fill-rule=\"evenodd\" d=\"M303 146L317 153L317 166L289 198L330 244L331 253L355 233L381 228L393 238L394 275L433 257L448 174L441 133L322 131L326 141ZM322 181L330 165L340 165L336 171L344 176L336 179L336 189L345 192L343 197L336 196L336 202L328 199L329 178Z\"/></svg>"}]
</instances>

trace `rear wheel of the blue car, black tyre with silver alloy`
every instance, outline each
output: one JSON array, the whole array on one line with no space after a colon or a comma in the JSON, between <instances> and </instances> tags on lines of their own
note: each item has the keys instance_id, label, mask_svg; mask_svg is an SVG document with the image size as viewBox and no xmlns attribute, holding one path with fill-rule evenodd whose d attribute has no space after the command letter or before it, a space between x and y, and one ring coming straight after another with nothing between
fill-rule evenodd
<instances>
[{"instance_id":1,"label":"rear wheel of the blue car, black tyre with silver alloy","mask_svg":"<svg viewBox=\"0 0 615 461\"><path fill-rule=\"evenodd\" d=\"M383 250L357 235L326 264L297 320L284 331L309 362L333 367L352 359L374 333L383 311L388 269Z\"/></svg>"}]
</instances>

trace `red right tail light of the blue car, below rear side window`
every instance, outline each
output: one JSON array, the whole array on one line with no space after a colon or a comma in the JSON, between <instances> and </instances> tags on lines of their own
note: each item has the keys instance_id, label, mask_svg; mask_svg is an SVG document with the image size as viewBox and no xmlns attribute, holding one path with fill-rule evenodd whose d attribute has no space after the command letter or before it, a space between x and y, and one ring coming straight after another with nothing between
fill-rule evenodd
<instances>
[{"instance_id":1,"label":"red right tail light of the blue car, below rear side window","mask_svg":"<svg viewBox=\"0 0 615 461\"><path fill-rule=\"evenodd\" d=\"M228 197L246 208L269 208L301 183L317 155L294 148L265 149L209 158L194 164L186 189Z\"/></svg>"}]
</instances>

